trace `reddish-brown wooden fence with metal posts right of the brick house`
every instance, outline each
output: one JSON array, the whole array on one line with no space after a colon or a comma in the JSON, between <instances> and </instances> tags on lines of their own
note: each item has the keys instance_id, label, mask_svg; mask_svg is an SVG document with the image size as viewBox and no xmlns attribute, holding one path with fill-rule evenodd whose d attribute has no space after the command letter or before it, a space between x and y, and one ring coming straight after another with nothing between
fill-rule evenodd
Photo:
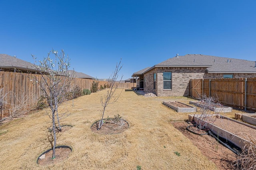
<instances>
[{"instance_id":1,"label":"reddish-brown wooden fence with metal posts right of the brick house","mask_svg":"<svg viewBox=\"0 0 256 170\"><path fill-rule=\"evenodd\" d=\"M203 94L232 107L256 111L256 78L191 79L190 96Z\"/></svg>"}]
</instances>

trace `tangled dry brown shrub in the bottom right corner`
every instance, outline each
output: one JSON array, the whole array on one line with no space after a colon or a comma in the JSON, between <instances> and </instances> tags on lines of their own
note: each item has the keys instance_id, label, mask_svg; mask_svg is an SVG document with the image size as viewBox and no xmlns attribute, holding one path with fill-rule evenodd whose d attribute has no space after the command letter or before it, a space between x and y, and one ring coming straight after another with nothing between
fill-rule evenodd
<instances>
[{"instance_id":1,"label":"tangled dry brown shrub in the bottom right corner","mask_svg":"<svg viewBox=\"0 0 256 170\"><path fill-rule=\"evenodd\" d=\"M256 170L256 139L248 136L248 141L244 142L242 153L233 162L236 170Z\"/></svg>"}]
</instances>

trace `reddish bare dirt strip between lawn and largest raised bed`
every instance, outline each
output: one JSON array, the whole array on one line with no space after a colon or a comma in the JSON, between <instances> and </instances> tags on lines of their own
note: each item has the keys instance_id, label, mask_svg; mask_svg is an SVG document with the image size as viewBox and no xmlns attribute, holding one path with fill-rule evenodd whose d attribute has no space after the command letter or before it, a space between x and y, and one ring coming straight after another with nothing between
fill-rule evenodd
<instances>
[{"instance_id":1,"label":"reddish bare dirt strip between lawn and largest raised bed","mask_svg":"<svg viewBox=\"0 0 256 170\"><path fill-rule=\"evenodd\" d=\"M212 160L220 170L233 170L232 162L236 154L219 144L210 135L196 135L186 130L191 125L185 121L172 122L172 125L183 133L209 160Z\"/></svg>"}]
</instances>

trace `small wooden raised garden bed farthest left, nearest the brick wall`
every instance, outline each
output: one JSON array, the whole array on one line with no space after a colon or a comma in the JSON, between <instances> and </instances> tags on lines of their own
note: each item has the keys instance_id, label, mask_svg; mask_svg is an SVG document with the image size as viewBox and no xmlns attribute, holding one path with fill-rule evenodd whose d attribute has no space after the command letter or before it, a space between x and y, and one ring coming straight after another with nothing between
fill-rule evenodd
<instances>
[{"instance_id":1,"label":"small wooden raised garden bed farthest left, nearest the brick wall","mask_svg":"<svg viewBox=\"0 0 256 170\"><path fill-rule=\"evenodd\" d=\"M196 107L192 107L177 101L163 102L163 104L176 110L177 112L196 112Z\"/></svg>"}]
</instances>

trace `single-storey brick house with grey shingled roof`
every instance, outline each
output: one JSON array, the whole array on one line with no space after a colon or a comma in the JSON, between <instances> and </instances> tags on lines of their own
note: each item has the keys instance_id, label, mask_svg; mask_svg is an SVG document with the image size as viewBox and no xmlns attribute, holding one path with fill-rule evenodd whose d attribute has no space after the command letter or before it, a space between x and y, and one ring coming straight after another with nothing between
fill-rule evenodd
<instances>
[{"instance_id":1,"label":"single-storey brick house with grey shingled roof","mask_svg":"<svg viewBox=\"0 0 256 170\"><path fill-rule=\"evenodd\" d=\"M137 86L157 96L189 96L190 79L256 77L256 62L210 55L170 58L132 74Z\"/></svg>"}]
</instances>

